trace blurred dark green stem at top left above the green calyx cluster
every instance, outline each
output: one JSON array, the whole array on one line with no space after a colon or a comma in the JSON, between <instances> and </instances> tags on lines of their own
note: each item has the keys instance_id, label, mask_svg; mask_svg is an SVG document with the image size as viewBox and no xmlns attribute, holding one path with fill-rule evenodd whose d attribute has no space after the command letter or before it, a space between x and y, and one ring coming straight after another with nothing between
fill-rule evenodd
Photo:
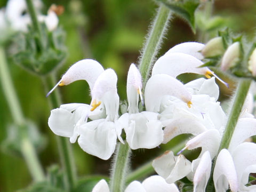
<instances>
[{"instance_id":1,"label":"blurred dark green stem at top left above the green calyx cluster","mask_svg":"<svg viewBox=\"0 0 256 192\"><path fill-rule=\"evenodd\" d=\"M31 18L32 23L33 23L33 27L38 33L39 47L40 47L41 50L44 50L43 33L42 33L42 30L41 30L40 23L38 22L38 19L37 19L37 14L36 14L35 7L33 5L33 1L32 0L26 0L26 3L27 3L30 18Z\"/></svg>"}]
</instances>

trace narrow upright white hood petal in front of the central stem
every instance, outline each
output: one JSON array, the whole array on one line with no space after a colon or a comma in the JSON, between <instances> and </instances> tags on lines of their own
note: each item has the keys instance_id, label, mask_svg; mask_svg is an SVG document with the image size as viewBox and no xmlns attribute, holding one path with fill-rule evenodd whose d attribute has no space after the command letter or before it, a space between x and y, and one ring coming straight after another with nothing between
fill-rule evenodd
<instances>
[{"instance_id":1,"label":"narrow upright white hood petal in front of the central stem","mask_svg":"<svg viewBox=\"0 0 256 192\"><path fill-rule=\"evenodd\" d=\"M138 68L132 63L127 75L127 100L129 113L138 113L138 92L142 89L141 75Z\"/></svg>"}]
</instances>

